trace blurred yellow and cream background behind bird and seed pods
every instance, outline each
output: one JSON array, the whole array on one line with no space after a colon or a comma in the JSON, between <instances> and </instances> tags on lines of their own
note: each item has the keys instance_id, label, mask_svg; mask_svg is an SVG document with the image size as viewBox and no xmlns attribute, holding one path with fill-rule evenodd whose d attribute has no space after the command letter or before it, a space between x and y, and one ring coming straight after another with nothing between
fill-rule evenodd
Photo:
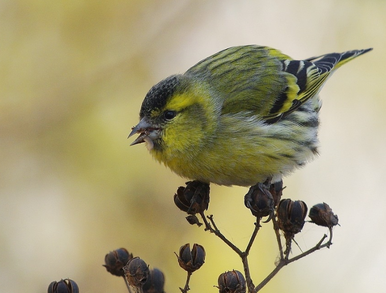
<instances>
[{"instance_id":1,"label":"blurred yellow and cream background behind bird and seed pods","mask_svg":"<svg viewBox=\"0 0 386 293\"><path fill-rule=\"evenodd\" d=\"M207 260L192 292L242 270L214 235L173 204L185 180L129 147L147 90L199 60L241 44L293 58L374 47L322 90L321 156L285 180L284 197L339 215L333 246L285 267L263 292L382 292L386 275L386 2L0 1L0 291L45 292L61 278L81 292L125 292L101 265L125 247L185 284L173 252L200 243ZM244 248L253 216L247 188L212 186L210 213ZM306 250L326 229L306 223ZM297 252L294 249L294 252ZM277 256L271 223L250 257L259 283Z\"/></svg>"}]
</instances>

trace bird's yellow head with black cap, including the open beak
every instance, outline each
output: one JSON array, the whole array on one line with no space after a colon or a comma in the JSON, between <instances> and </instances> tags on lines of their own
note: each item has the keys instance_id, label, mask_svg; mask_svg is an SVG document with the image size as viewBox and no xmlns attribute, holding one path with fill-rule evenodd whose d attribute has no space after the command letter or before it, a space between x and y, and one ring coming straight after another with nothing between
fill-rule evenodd
<instances>
[{"instance_id":1,"label":"bird's yellow head with black cap, including the open beak","mask_svg":"<svg viewBox=\"0 0 386 293\"><path fill-rule=\"evenodd\" d=\"M197 153L215 128L211 101L207 87L189 76L166 78L146 94L140 121L128 136L139 134L131 145L146 142L150 153L164 162Z\"/></svg>"}]
</instances>

